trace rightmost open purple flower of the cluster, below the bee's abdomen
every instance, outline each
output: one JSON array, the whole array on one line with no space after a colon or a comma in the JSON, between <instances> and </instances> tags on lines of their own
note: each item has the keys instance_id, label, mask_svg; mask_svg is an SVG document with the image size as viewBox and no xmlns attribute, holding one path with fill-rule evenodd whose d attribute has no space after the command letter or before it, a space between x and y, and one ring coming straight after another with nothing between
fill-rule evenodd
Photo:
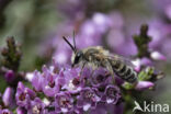
<instances>
[{"instance_id":1,"label":"rightmost open purple flower of the cluster, below the bee's abdomen","mask_svg":"<svg viewBox=\"0 0 171 114\"><path fill-rule=\"evenodd\" d=\"M102 98L106 103L116 104L121 99L121 91L116 86L107 86Z\"/></svg>"}]
</instances>

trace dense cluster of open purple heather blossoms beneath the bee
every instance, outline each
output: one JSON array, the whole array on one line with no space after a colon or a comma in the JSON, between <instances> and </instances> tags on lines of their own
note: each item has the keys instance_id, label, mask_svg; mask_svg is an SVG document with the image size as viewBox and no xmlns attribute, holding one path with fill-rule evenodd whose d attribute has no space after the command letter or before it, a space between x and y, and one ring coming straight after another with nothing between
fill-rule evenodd
<instances>
[{"instance_id":1,"label":"dense cluster of open purple heather blossoms beneath the bee","mask_svg":"<svg viewBox=\"0 0 171 114\"><path fill-rule=\"evenodd\" d=\"M112 84L105 69L100 68L91 73L92 71L86 68L80 75L80 68L60 68L55 64L49 68L44 66L42 70L43 72L35 71L31 79L35 92L18 86L15 96L20 107L34 111L32 102L39 100L35 93L44 96L38 104L39 112L56 114L94 112L99 105L115 106L121 101L121 90Z\"/></svg>"}]
</instances>

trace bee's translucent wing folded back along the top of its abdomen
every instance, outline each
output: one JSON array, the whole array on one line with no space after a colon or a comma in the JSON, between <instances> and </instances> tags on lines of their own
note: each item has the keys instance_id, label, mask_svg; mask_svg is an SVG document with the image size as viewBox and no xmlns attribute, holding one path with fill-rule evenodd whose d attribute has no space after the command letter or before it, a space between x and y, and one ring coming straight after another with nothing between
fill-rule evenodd
<instances>
[{"instance_id":1,"label":"bee's translucent wing folded back along the top of its abdomen","mask_svg":"<svg viewBox=\"0 0 171 114\"><path fill-rule=\"evenodd\" d=\"M110 55L109 57L110 57L111 59L115 59L115 60L123 61L123 62L125 62L127 66L130 66L130 67L133 67L133 68L135 67L129 58L125 58L125 57L123 57L123 56L121 56L121 55L116 55L116 54Z\"/></svg>"}]
</instances>

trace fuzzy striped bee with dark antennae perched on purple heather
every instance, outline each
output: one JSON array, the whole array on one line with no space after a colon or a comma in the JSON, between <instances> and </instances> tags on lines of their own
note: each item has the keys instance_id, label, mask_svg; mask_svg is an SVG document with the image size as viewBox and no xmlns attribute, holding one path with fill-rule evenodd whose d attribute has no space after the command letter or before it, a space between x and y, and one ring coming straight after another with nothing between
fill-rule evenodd
<instances>
[{"instance_id":1,"label":"fuzzy striped bee with dark antennae perched on purple heather","mask_svg":"<svg viewBox=\"0 0 171 114\"><path fill-rule=\"evenodd\" d=\"M71 57L71 66L80 66L81 70L84 67L91 67L95 70L99 67L106 68L114 78L114 73L123 80L136 84L138 82L137 72L134 70L133 64L122 56L110 54L109 50L102 46L92 46L83 49L76 48L76 41L73 35L73 46L68 39L62 36L66 43L73 50Z\"/></svg>"}]
</instances>

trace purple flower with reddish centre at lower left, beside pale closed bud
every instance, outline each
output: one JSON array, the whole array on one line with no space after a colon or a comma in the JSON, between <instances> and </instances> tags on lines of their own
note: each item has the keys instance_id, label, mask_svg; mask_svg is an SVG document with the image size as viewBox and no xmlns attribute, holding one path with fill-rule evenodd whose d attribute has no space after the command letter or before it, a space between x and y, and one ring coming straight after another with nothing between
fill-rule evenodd
<instances>
[{"instance_id":1,"label":"purple flower with reddish centre at lower left, beside pale closed bud","mask_svg":"<svg viewBox=\"0 0 171 114\"><path fill-rule=\"evenodd\" d=\"M19 106L29 109L31 106L31 100L36 96L35 92L29 88L25 88L22 82L18 83L15 100Z\"/></svg>"}]
</instances>

